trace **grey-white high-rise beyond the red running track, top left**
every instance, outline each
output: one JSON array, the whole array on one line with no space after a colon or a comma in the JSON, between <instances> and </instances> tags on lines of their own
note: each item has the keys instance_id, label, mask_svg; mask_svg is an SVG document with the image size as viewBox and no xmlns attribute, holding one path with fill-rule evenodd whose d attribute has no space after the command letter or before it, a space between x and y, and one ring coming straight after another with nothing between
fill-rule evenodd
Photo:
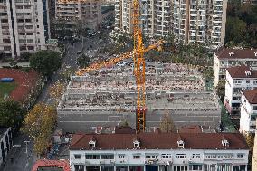
<instances>
[{"instance_id":1,"label":"grey-white high-rise beyond the red running track, top left","mask_svg":"<svg viewBox=\"0 0 257 171\"><path fill-rule=\"evenodd\" d=\"M48 1L0 1L0 52L19 57L45 49L50 37Z\"/></svg>"}]
</instances>

